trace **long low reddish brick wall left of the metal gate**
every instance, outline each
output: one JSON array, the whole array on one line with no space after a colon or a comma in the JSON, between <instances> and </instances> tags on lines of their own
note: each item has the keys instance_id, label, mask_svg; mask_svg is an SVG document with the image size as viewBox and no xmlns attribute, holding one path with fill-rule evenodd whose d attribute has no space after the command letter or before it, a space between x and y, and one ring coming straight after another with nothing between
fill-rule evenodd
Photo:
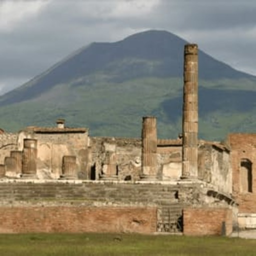
<instances>
[{"instance_id":1,"label":"long low reddish brick wall left of the metal gate","mask_svg":"<svg viewBox=\"0 0 256 256\"><path fill-rule=\"evenodd\" d=\"M154 207L0 207L0 233L155 231Z\"/></svg>"}]
</instances>

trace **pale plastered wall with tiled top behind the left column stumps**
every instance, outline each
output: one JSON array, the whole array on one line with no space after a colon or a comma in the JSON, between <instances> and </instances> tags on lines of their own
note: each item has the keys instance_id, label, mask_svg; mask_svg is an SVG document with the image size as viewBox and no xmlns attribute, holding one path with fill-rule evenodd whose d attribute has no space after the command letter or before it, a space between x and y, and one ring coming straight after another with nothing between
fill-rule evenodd
<instances>
[{"instance_id":1,"label":"pale plastered wall with tiled top behind the left column stumps","mask_svg":"<svg viewBox=\"0 0 256 256\"><path fill-rule=\"evenodd\" d=\"M76 157L78 178L89 175L88 133L87 132L29 132L18 135L18 148L23 149L23 139L37 140L37 176L38 178L59 178L62 175L63 156Z\"/></svg>"}]
</instances>

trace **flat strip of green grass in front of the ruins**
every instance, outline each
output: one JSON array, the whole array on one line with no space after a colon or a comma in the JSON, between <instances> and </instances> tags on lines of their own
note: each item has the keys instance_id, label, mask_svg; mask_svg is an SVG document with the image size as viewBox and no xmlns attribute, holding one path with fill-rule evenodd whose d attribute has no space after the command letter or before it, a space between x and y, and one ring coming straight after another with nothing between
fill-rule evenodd
<instances>
[{"instance_id":1,"label":"flat strip of green grass in front of the ruins","mask_svg":"<svg viewBox=\"0 0 256 256\"><path fill-rule=\"evenodd\" d=\"M256 240L139 234L0 234L1 256L255 256Z\"/></svg>"}]
</instances>

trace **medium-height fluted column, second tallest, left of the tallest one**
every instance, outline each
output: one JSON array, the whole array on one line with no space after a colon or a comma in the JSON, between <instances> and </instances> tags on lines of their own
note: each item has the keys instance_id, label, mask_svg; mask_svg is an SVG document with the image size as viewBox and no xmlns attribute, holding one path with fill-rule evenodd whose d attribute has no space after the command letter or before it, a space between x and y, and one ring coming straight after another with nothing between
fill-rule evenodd
<instances>
[{"instance_id":1,"label":"medium-height fluted column, second tallest, left of the tallest one","mask_svg":"<svg viewBox=\"0 0 256 256\"><path fill-rule=\"evenodd\" d=\"M141 178L156 179L157 176L157 132L156 117L142 118L142 175Z\"/></svg>"}]
</instances>

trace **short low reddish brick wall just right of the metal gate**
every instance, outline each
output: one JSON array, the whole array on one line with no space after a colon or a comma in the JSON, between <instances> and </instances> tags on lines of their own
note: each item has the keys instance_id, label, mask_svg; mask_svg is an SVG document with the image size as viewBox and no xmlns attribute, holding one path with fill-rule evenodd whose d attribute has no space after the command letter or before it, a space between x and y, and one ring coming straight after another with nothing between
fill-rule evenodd
<instances>
[{"instance_id":1,"label":"short low reddish brick wall just right of the metal gate","mask_svg":"<svg viewBox=\"0 0 256 256\"><path fill-rule=\"evenodd\" d=\"M185 235L220 235L225 221L226 234L232 232L232 210L228 208L185 208L183 233Z\"/></svg>"}]
</instances>

